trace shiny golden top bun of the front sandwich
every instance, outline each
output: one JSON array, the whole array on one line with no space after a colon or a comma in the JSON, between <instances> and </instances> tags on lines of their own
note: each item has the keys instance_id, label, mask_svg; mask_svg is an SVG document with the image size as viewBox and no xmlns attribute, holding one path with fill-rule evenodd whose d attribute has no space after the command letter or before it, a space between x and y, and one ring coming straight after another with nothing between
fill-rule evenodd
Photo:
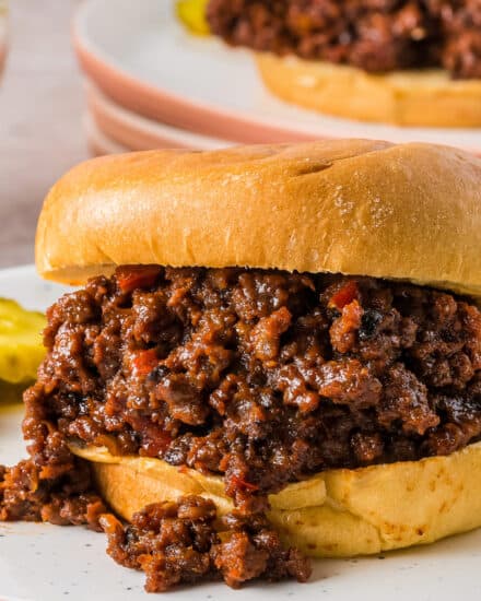
<instances>
[{"instance_id":1,"label":"shiny golden top bun of the front sandwich","mask_svg":"<svg viewBox=\"0 0 481 601\"><path fill-rule=\"evenodd\" d=\"M336 140L151 151L73 168L38 221L39 273L250 267L401 279L481 296L481 161Z\"/></svg>"}]
</instances>

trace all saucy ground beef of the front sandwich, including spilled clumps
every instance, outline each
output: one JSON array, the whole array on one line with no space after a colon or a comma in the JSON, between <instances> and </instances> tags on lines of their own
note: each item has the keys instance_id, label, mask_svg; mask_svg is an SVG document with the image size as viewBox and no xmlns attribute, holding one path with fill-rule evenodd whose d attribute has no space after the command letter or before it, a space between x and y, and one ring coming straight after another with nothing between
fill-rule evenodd
<instances>
[{"instance_id":1,"label":"all saucy ground beef of the front sandwich, including spilled clumps","mask_svg":"<svg viewBox=\"0 0 481 601\"><path fill-rule=\"evenodd\" d=\"M31 459L0 472L0 518L102 528L149 590L219 576L305 580L307 561L266 520L268 494L318 471L481 439L481 313L446 292L127 266L47 316L47 356L24 397ZM124 528L67 440L222 474L235 510L219 526L210 502L186 497Z\"/></svg>"}]
</instances>

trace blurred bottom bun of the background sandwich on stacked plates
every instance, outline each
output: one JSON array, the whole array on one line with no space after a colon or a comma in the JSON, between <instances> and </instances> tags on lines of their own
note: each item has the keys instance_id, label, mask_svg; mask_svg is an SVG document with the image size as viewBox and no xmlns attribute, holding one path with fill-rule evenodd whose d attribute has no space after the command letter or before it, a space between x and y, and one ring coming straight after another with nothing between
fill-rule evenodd
<instances>
[{"instance_id":1,"label":"blurred bottom bun of the background sandwich on stacked plates","mask_svg":"<svg viewBox=\"0 0 481 601\"><path fill-rule=\"evenodd\" d=\"M328 115L398 126L481 126L481 80L453 80L442 70L372 74L270 54L257 55L256 62L273 94Z\"/></svg>"}]
</instances>

